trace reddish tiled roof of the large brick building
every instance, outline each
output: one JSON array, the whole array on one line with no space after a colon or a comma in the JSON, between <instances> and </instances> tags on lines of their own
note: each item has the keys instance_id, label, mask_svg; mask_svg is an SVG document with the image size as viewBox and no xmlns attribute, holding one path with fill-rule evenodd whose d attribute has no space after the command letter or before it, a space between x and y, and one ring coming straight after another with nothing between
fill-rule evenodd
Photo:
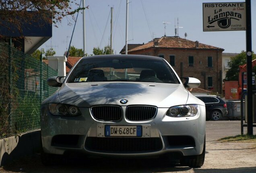
<instances>
[{"instance_id":1,"label":"reddish tiled roof of the large brick building","mask_svg":"<svg viewBox=\"0 0 256 173\"><path fill-rule=\"evenodd\" d=\"M154 46L154 41L158 40L158 46ZM147 48L193 48L193 49L219 49L224 50L223 48L218 48L215 46L210 46L207 44L202 44L198 42L198 46L196 47L196 42L187 40L184 38L180 38L178 36L163 36L161 38L155 38L153 41L150 41L146 44L138 46L136 48L130 49L128 52L136 51L136 50L143 50Z\"/></svg>"}]
</instances>

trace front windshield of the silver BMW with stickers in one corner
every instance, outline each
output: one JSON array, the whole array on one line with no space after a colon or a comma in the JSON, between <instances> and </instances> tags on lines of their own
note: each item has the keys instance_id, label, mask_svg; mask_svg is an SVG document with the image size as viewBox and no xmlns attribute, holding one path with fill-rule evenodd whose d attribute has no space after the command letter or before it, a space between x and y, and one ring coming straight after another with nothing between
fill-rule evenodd
<instances>
[{"instance_id":1,"label":"front windshield of the silver BMW with stickers in one corner","mask_svg":"<svg viewBox=\"0 0 256 173\"><path fill-rule=\"evenodd\" d=\"M85 58L67 79L68 83L103 81L180 83L164 60L138 57Z\"/></svg>"}]
</instances>

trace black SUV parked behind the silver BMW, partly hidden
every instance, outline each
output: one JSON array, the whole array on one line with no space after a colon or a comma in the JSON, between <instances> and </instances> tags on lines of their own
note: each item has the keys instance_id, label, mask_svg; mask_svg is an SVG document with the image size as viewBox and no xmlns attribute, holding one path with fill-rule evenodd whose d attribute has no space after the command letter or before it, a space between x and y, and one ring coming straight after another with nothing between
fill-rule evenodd
<instances>
[{"instance_id":1,"label":"black SUV parked behind the silver BMW, partly hidden","mask_svg":"<svg viewBox=\"0 0 256 173\"><path fill-rule=\"evenodd\" d=\"M227 116L227 104L220 97L215 95L197 95L196 97L205 103L206 120L217 121Z\"/></svg>"}]
</instances>

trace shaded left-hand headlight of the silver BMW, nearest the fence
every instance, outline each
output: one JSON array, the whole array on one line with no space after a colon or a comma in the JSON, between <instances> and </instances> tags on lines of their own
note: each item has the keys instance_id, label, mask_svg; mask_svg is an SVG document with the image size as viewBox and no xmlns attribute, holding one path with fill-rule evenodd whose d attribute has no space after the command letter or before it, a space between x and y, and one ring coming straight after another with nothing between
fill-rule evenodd
<instances>
[{"instance_id":1,"label":"shaded left-hand headlight of the silver BMW, nearest the fence","mask_svg":"<svg viewBox=\"0 0 256 173\"><path fill-rule=\"evenodd\" d=\"M81 115L81 112L79 111L78 107L66 104L50 103L49 111L52 115L55 116L74 117Z\"/></svg>"}]
</instances>

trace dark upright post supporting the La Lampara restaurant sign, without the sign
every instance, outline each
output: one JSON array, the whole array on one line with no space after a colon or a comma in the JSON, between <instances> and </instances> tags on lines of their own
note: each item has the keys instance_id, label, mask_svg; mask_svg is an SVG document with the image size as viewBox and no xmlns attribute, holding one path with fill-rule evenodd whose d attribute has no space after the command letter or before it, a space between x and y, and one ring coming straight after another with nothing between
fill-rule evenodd
<instances>
[{"instance_id":1,"label":"dark upright post supporting the La Lampara restaurant sign, without the sign","mask_svg":"<svg viewBox=\"0 0 256 173\"><path fill-rule=\"evenodd\" d=\"M252 14L251 0L246 0L246 55L247 55L247 135L253 135L252 117Z\"/></svg>"}]
</instances>

